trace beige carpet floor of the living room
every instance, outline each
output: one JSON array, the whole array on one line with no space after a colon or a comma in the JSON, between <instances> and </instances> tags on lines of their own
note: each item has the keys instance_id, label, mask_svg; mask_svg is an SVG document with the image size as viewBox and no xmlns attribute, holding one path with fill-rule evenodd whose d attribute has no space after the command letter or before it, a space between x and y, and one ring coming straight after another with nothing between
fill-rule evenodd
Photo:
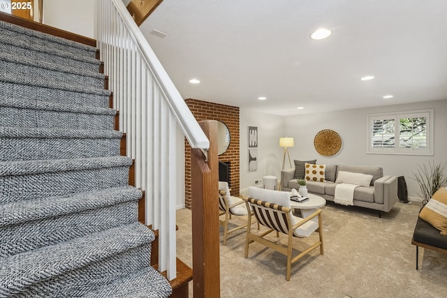
<instances>
[{"instance_id":1,"label":"beige carpet floor of the living room","mask_svg":"<svg viewBox=\"0 0 447 298\"><path fill-rule=\"evenodd\" d=\"M291 281L285 278L284 255L251 244L244 258L245 230L229 234L223 246L221 228L221 297L447 297L447 254L420 248L416 271L411 237L418 205L397 202L382 218L332 202L322 209L324 255L317 248L295 263ZM191 266L189 209L177 211L177 224L177 256ZM294 253L316 239L316 233L295 239ZM192 284L189 288L193 297Z\"/></svg>"}]
</instances>

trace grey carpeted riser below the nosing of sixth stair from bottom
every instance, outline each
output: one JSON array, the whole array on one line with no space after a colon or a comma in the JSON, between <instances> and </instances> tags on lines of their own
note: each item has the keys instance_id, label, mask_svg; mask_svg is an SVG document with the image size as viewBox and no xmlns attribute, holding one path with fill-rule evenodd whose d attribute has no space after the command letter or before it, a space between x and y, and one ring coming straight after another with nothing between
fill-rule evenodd
<instances>
[{"instance_id":1,"label":"grey carpeted riser below the nosing of sixth stair from bottom","mask_svg":"<svg viewBox=\"0 0 447 298\"><path fill-rule=\"evenodd\" d=\"M113 129L114 115L0 107L0 126L60 129Z\"/></svg>"}]
</instances>

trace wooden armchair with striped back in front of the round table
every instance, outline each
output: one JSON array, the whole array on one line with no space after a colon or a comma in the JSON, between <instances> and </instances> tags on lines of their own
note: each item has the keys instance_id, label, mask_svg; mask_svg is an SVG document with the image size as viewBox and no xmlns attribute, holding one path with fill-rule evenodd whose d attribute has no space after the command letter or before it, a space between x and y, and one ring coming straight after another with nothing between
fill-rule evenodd
<instances>
[{"instance_id":1,"label":"wooden armchair with striped back in front of the round table","mask_svg":"<svg viewBox=\"0 0 447 298\"><path fill-rule=\"evenodd\" d=\"M251 218L249 217L247 239L245 242L245 258L248 258L249 244L255 241L286 255L286 281L290 281L292 264L318 246L320 246L320 254L323 255L321 209L318 209L314 214L311 214L306 218L300 218L293 215L290 193L285 191L271 191L256 187L250 187L249 198L243 199L247 204L247 209L253 211L254 217L258 223L268 228L267 231L261 232L260 234L251 232ZM279 233L288 236L286 245L266 238L268 234L274 231L276 231L277 237L279 237ZM293 257L294 240L297 237L310 237L314 232L318 232L318 241Z\"/></svg>"}]
</instances>

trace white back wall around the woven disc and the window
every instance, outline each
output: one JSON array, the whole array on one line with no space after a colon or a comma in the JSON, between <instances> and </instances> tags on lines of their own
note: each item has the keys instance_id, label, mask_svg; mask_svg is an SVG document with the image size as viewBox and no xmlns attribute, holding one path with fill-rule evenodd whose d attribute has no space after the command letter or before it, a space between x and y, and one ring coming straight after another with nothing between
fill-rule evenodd
<instances>
[{"instance_id":1,"label":"white back wall around the woven disc and the window","mask_svg":"<svg viewBox=\"0 0 447 298\"><path fill-rule=\"evenodd\" d=\"M398 112L420 109L434 109L434 156L404 156L366 154L366 115L379 112ZM411 179L418 164L428 161L447 161L447 100L406 105L389 105L360 110L344 110L321 114L308 114L284 118L284 133L295 137L295 147L290 149L291 158L298 160L315 159L322 164L380 165L383 174L404 176L410 197L419 197L419 187ZM314 137L318 131L332 129L342 137L342 149L335 156L322 156L314 148Z\"/></svg>"}]
</instances>

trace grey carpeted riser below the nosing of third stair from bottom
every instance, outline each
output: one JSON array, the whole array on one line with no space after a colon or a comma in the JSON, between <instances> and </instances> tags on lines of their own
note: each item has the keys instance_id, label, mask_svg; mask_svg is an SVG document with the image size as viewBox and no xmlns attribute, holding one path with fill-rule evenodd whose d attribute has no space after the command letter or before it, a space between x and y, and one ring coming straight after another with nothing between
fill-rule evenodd
<instances>
[{"instance_id":1,"label":"grey carpeted riser below the nosing of third stair from bottom","mask_svg":"<svg viewBox=\"0 0 447 298\"><path fill-rule=\"evenodd\" d=\"M138 203L131 201L8 225L1 228L0 258L133 223L137 214Z\"/></svg>"}]
</instances>

